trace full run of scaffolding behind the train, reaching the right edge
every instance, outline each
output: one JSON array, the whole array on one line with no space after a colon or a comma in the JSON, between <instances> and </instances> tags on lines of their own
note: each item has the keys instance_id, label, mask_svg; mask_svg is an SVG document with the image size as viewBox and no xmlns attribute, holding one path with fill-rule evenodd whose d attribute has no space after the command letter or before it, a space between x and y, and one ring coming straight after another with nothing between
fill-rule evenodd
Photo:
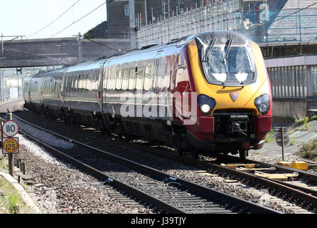
<instances>
[{"instance_id":1,"label":"full run of scaffolding behind the train, reaching the right edge","mask_svg":"<svg viewBox=\"0 0 317 228\"><path fill-rule=\"evenodd\" d=\"M254 2L252 8L246 10L244 4L247 1L244 0L217 1L217 4L176 13L176 16L147 26L138 20L137 46L168 43L176 38L214 30L245 33L259 44L317 41L317 26L313 24L317 4L313 1L296 5L295 0L289 0L280 4L281 9L269 9L267 0Z\"/></svg>"}]
</instances>

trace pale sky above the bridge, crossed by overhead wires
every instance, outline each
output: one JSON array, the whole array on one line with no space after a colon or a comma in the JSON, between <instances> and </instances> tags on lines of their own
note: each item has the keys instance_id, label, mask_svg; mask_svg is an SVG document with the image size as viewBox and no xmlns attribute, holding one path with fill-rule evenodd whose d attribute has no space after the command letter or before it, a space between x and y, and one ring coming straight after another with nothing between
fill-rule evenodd
<instances>
[{"instance_id":1,"label":"pale sky above the bridge, crossed by overhead wires","mask_svg":"<svg viewBox=\"0 0 317 228\"><path fill-rule=\"evenodd\" d=\"M4 36L25 36L23 39L50 38L64 28L90 13L105 0L1 0L0 33ZM77 2L77 4L75 4ZM68 12L61 14L73 6ZM107 20L107 4L53 36L72 37L78 32L85 33ZM48 26L48 24L53 24ZM43 29L45 26L47 28ZM36 33L37 31L40 31ZM36 33L35 35L33 35ZM0 34L1 35L1 34ZM31 36L33 35L33 36ZM4 38L8 40L9 38Z\"/></svg>"}]
</instances>

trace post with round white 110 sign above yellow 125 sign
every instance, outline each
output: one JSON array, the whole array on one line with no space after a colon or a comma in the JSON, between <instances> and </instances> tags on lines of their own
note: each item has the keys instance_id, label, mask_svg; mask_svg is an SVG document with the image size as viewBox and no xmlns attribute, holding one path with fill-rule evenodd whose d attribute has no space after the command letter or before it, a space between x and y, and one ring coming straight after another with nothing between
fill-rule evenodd
<instances>
[{"instance_id":1,"label":"post with round white 110 sign above yellow 125 sign","mask_svg":"<svg viewBox=\"0 0 317 228\"><path fill-rule=\"evenodd\" d=\"M6 120L3 125L1 121L2 153L8 155L9 174L14 177L14 154L18 153L18 138L14 135L18 133L18 124L12 120L11 113L6 113Z\"/></svg>"}]
</instances>

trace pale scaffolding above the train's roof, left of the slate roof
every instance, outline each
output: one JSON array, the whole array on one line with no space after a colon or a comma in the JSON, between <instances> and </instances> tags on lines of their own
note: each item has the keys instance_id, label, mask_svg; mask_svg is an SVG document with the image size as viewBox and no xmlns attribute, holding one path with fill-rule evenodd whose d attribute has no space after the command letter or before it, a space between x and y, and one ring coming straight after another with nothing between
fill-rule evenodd
<instances>
[{"instance_id":1,"label":"pale scaffolding above the train's roof, left of the slate roof","mask_svg":"<svg viewBox=\"0 0 317 228\"><path fill-rule=\"evenodd\" d=\"M240 31L241 0L224 1L198 9L186 10L155 24L139 24L136 33L138 48L153 43L168 43L174 38L190 36L210 30Z\"/></svg>"}]
</instances>

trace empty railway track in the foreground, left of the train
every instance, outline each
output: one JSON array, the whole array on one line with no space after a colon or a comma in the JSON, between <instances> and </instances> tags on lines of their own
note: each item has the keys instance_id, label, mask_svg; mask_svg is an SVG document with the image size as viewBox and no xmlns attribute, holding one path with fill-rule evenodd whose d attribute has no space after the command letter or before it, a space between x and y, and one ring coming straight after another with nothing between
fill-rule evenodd
<instances>
[{"instance_id":1,"label":"empty railway track in the foreground, left of the train","mask_svg":"<svg viewBox=\"0 0 317 228\"><path fill-rule=\"evenodd\" d=\"M34 128L63 138L65 143L72 144L71 149L64 150L58 145L47 145L37 140L30 133L23 133L58 157L67 160L80 169L91 173L102 181L128 192L141 202L168 213L279 213L244 199L233 197L188 180L173 177L146 165L112 155L82 142L77 142L63 135L52 133L32 123ZM21 127L23 128L23 127Z\"/></svg>"}]
</instances>

